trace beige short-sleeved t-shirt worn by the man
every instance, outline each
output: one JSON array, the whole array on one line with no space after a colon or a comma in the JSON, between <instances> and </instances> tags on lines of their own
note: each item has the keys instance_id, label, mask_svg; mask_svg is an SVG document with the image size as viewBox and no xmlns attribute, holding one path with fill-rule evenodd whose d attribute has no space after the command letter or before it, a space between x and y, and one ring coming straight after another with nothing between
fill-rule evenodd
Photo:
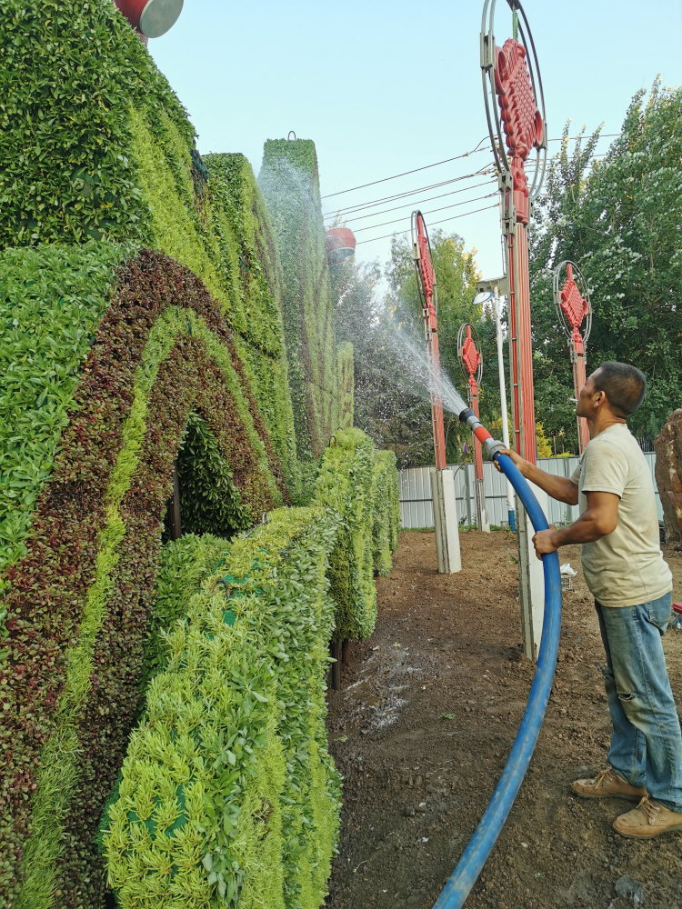
<instances>
[{"instance_id":1,"label":"beige short-sleeved t-shirt worn by the man","mask_svg":"<svg viewBox=\"0 0 682 909\"><path fill-rule=\"evenodd\" d=\"M587 445L571 476L580 514L586 493L615 493L618 524L612 534L581 547L587 586L603 606L635 606L673 589L661 553L654 484L647 461L625 424L609 426Z\"/></svg>"}]
</instances>

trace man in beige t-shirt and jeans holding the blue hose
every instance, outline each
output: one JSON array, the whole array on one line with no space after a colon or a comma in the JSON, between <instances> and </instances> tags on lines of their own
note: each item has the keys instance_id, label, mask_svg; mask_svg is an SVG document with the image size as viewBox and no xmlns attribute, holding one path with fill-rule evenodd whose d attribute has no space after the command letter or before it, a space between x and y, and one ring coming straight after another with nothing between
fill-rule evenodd
<instances>
[{"instance_id":1,"label":"man in beige t-shirt and jeans holding the blue hose","mask_svg":"<svg viewBox=\"0 0 682 909\"><path fill-rule=\"evenodd\" d=\"M646 390L645 375L625 363L604 363L589 376L576 414L587 419L590 442L570 480L505 453L547 494L580 505L574 524L552 525L533 537L538 558L582 544L607 653L609 766L573 788L583 798L638 802L613 824L635 839L682 830L682 736L661 644L672 575L660 551L651 474L626 425Z\"/></svg>"}]
</instances>

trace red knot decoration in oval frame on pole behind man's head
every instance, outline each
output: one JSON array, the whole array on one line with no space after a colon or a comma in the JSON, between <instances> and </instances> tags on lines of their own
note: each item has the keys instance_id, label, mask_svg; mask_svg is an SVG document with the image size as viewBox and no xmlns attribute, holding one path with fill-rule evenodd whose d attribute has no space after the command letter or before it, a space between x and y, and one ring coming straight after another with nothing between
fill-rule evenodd
<instances>
[{"instance_id":1,"label":"red knot decoration in oval frame on pole behind man's head","mask_svg":"<svg viewBox=\"0 0 682 909\"><path fill-rule=\"evenodd\" d=\"M566 271L566 280L561 284L561 275ZM577 280L576 280L577 278ZM592 304L589 289L583 273L575 262L565 260L554 269L554 305L557 307L557 321L567 337L568 355L573 365L573 385L576 401L587 376L586 345L592 331ZM585 322L585 331L580 335L580 326ZM583 454L589 442L589 430L585 417L577 417L578 454Z\"/></svg>"}]
</instances>

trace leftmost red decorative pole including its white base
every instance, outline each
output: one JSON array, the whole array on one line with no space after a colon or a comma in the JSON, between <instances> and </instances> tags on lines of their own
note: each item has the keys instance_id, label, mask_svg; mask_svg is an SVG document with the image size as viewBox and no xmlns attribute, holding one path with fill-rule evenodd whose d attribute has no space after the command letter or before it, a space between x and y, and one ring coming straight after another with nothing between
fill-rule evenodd
<instances>
[{"instance_id":1,"label":"leftmost red decorative pole including its white base","mask_svg":"<svg viewBox=\"0 0 682 909\"><path fill-rule=\"evenodd\" d=\"M412 213L412 255L415 260L416 285L421 297L426 335L426 351L431 386L431 422L434 431L436 467L431 470L431 498L436 528L436 551L440 574L455 574L462 570L459 550L459 522L455 498L455 477L447 468L446 433L443 423L443 397L440 384L440 354L438 351L438 294L436 272L431 260L426 222L421 212Z\"/></svg>"}]
</instances>

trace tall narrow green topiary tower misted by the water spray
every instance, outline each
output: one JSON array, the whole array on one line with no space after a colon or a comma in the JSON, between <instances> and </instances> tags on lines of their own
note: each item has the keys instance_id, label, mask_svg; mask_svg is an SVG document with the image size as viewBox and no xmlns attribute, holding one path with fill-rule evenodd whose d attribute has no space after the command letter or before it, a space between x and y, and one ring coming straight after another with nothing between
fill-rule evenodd
<instances>
[{"instance_id":1,"label":"tall narrow green topiary tower misted by the water spray","mask_svg":"<svg viewBox=\"0 0 682 909\"><path fill-rule=\"evenodd\" d=\"M284 331L300 458L324 451L338 419L336 329L315 145L266 142L258 183L284 275Z\"/></svg>"}]
</instances>

